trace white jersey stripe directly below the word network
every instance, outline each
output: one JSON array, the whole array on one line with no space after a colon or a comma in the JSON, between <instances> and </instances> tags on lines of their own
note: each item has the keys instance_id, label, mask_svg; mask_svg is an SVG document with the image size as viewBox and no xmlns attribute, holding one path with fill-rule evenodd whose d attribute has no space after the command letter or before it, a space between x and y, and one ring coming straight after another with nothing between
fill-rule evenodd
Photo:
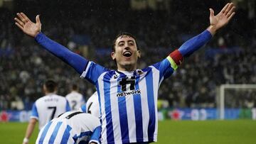
<instances>
[{"instance_id":1,"label":"white jersey stripe directly below the word network","mask_svg":"<svg viewBox=\"0 0 256 144\"><path fill-rule=\"evenodd\" d=\"M129 128L129 142L135 143L136 139L136 121L134 113L134 99L133 95L125 96L126 107L127 107L127 119L128 119L128 128ZM133 131L132 131L133 130Z\"/></svg>"}]
</instances>

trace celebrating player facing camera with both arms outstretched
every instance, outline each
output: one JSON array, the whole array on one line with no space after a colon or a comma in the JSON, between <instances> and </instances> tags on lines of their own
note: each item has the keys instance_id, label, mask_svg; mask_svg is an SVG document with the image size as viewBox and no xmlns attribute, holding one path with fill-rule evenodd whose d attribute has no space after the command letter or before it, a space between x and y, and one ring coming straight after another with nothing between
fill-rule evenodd
<instances>
[{"instance_id":1,"label":"celebrating player facing camera with both arms outstretched","mask_svg":"<svg viewBox=\"0 0 256 144\"><path fill-rule=\"evenodd\" d=\"M43 48L73 67L80 77L95 85L102 122L101 143L151 143L157 140L156 103L161 82L181 65L184 57L208 43L233 18L234 11L233 3L226 4L216 16L210 9L210 26L206 31L143 70L137 69L141 52L136 38L129 33L121 33L114 40L111 56L117 63L117 70L108 70L46 37L41 33L39 16L36 16L36 23L24 13L17 13L18 18L14 19L23 33L35 38Z\"/></svg>"}]
</instances>

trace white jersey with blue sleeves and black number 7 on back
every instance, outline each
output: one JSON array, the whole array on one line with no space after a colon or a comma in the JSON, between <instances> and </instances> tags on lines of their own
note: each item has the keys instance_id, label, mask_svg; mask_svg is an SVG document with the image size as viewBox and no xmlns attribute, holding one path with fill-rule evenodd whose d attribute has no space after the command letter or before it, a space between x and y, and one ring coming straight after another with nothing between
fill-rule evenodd
<instances>
[{"instance_id":1,"label":"white jersey with blue sleeves and black number 7 on back","mask_svg":"<svg viewBox=\"0 0 256 144\"><path fill-rule=\"evenodd\" d=\"M66 111L70 111L67 99L52 93L36 100L32 107L31 118L38 120L40 130L48 121Z\"/></svg>"}]
</instances>

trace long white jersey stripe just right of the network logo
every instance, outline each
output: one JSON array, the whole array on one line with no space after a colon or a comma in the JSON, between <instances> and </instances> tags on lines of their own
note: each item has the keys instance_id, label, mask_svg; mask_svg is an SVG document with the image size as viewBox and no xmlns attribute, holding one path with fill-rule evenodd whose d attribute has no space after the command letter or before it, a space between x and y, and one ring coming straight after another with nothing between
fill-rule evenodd
<instances>
[{"instance_id":1,"label":"long white jersey stripe just right of the network logo","mask_svg":"<svg viewBox=\"0 0 256 144\"><path fill-rule=\"evenodd\" d=\"M149 106L147 100L147 91L146 91L146 78L140 78L141 82L139 82L139 89L141 90L141 98L142 98L142 125L143 125L143 138L144 141L148 141L148 127L149 127Z\"/></svg>"}]
</instances>

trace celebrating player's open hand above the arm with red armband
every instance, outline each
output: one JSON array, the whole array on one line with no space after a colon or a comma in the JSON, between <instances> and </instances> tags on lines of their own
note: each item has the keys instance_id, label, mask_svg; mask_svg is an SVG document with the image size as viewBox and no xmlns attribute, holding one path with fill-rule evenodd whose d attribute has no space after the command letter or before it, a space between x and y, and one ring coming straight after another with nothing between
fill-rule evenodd
<instances>
[{"instance_id":1,"label":"celebrating player's open hand above the arm with red armband","mask_svg":"<svg viewBox=\"0 0 256 144\"><path fill-rule=\"evenodd\" d=\"M231 18L235 15L235 6L233 3L226 4L223 9L214 16L213 9L210 9L210 26L214 27L217 31L218 29L222 28Z\"/></svg>"}]
</instances>

